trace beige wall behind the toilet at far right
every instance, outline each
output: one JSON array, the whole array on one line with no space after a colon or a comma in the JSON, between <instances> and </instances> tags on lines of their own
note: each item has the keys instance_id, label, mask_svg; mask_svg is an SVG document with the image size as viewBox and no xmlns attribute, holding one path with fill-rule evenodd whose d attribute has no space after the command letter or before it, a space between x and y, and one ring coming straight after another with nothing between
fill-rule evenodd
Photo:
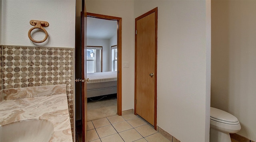
<instances>
[{"instance_id":1,"label":"beige wall behind the toilet at far right","mask_svg":"<svg viewBox=\"0 0 256 142\"><path fill-rule=\"evenodd\" d=\"M212 0L211 106L240 121L256 141L256 1Z\"/></svg>"}]
</instances>

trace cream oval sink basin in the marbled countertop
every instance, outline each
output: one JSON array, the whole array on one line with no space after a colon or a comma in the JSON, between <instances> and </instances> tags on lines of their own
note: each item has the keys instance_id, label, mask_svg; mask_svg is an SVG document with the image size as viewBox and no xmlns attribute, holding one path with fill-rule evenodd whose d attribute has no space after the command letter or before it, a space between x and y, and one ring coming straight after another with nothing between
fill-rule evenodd
<instances>
[{"instance_id":1,"label":"cream oval sink basin in the marbled countertop","mask_svg":"<svg viewBox=\"0 0 256 142\"><path fill-rule=\"evenodd\" d=\"M0 142L49 142L53 130L48 120L20 120L0 126Z\"/></svg>"}]
</instances>

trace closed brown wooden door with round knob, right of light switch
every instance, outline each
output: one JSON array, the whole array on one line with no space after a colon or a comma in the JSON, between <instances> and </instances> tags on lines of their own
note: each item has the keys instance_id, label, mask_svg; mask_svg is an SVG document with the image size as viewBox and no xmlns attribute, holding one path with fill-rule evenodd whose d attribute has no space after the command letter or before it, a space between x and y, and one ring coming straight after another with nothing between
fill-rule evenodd
<instances>
[{"instance_id":1,"label":"closed brown wooden door with round knob, right of light switch","mask_svg":"<svg viewBox=\"0 0 256 142\"><path fill-rule=\"evenodd\" d=\"M135 114L156 129L157 8L135 19Z\"/></svg>"}]
</instances>

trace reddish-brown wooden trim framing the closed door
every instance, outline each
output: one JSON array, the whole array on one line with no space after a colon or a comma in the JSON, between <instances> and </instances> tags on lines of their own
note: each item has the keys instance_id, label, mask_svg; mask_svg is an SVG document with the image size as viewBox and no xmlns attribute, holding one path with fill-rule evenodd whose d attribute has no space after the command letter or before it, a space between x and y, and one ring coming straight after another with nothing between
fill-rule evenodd
<instances>
[{"instance_id":1,"label":"reddish-brown wooden trim framing the closed door","mask_svg":"<svg viewBox=\"0 0 256 142\"><path fill-rule=\"evenodd\" d=\"M150 10L149 12L146 12L145 14L142 14L141 16L139 16L139 17L137 17L137 18L135 18L135 32L134 33L136 33L136 29L137 29L137 20L139 20L139 19L141 19L141 18L143 18L143 17L145 17L145 16L148 16L148 15L150 15L150 14L152 14L152 13L154 13L155 12L155 74L154 74L154 76L155 76L155 96L154 96L154 128L155 128L155 130L156 130L156 119L157 119L157 29L158 29L158 27L157 27L157 25L158 25L158 8L156 7L156 8L154 8L154 9L152 9L152 10ZM135 34L135 80L134 80L134 83L135 83L135 85L134 85L134 114L135 115L137 115L137 113L136 113L136 89L137 89L137 83L136 83L136 79L137 79L137 74L136 74L136 71L137 71L137 35Z\"/></svg>"}]
</instances>

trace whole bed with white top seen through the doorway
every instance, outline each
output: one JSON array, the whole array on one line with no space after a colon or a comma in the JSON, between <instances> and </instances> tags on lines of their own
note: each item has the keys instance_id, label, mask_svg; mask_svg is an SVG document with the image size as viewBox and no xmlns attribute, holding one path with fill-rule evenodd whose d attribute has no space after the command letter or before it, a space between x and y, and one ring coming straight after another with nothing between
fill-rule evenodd
<instances>
[{"instance_id":1,"label":"whole bed with white top seen through the doorway","mask_svg":"<svg viewBox=\"0 0 256 142\"><path fill-rule=\"evenodd\" d=\"M87 98L116 94L117 72L95 72L88 73Z\"/></svg>"}]
</instances>

